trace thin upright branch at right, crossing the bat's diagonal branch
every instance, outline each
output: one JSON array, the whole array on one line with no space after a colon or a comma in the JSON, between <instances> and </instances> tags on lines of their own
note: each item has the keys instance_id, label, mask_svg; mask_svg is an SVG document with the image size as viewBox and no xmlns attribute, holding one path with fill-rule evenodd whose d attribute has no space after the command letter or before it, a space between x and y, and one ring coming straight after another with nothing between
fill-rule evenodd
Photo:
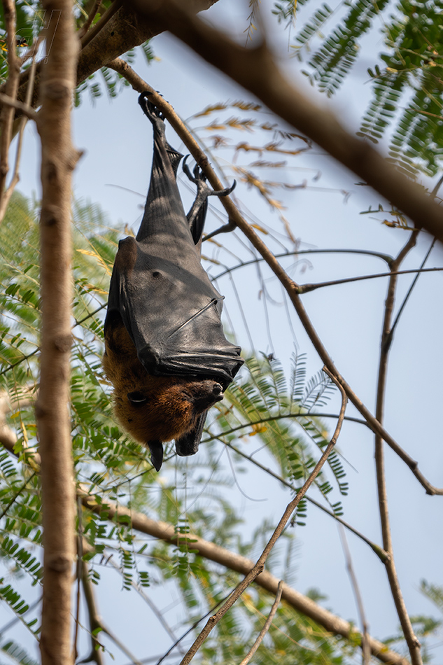
<instances>
[{"instance_id":1,"label":"thin upright branch at right, crossing the bat's diagonal branch","mask_svg":"<svg viewBox=\"0 0 443 665\"><path fill-rule=\"evenodd\" d=\"M391 321L393 316L393 308L395 302L395 288L397 286L398 276L395 272L407 253L416 244L417 232L413 231L407 244L402 248L398 257L392 264L393 275L389 280L388 295L386 296L384 322L381 332L380 343L380 360L379 360L379 378L377 381L377 406L376 417L379 423L384 420L384 403L386 393L386 377L388 372L388 355L393 337L391 333ZM391 587L391 594L395 603L395 608L400 619L402 631L405 635L405 640L411 654L412 665L422 665L420 642L416 638L414 629L412 627L411 619L405 605L405 601L400 589L400 582L398 580L397 570L395 569L395 560L393 556L393 544L391 538L391 526L389 524L388 512L388 493L386 490L386 477L384 469L384 450L383 438L376 433L375 435L375 468L377 473L377 489L379 496L379 512L381 520L381 533L383 535L383 547L386 552L390 554L388 561L386 561L386 573L388 575L389 586Z\"/></svg>"}]
</instances>

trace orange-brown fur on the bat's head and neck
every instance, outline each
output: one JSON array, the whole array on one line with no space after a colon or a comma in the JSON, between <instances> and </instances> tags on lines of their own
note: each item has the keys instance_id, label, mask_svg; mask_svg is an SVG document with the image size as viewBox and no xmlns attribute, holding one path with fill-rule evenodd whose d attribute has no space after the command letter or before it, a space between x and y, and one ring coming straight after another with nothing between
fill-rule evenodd
<instances>
[{"instance_id":1,"label":"orange-brown fur on the bat's head and neck","mask_svg":"<svg viewBox=\"0 0 443 665\"><path fill-rule=\"evenodd\" d=\"M136 441L181 437L195 427L199 414L221 399L208 396L215 381L148 374L121 319L109 326L105 341L103 366L114 388L115 416ZM133 405L127 397L133 392L146 395L146 404Z\"/></svg>"}]
</instances>

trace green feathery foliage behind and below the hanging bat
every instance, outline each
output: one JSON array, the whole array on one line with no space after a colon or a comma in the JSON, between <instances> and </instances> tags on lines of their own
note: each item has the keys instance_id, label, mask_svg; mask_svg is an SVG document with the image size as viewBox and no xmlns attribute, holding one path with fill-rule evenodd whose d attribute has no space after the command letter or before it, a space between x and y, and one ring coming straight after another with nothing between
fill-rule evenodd
<instances>
[{"instance_id":1,"label":"green feathery foliage behind and below the hanging bat","mask_svg":"<svg viewBox=\"0 0 443 665\"><path fill-rule=\"evenodd\" d=\"M40 317L37 218L38 204L15 195L0 228L0 281L6 287L0 296L0 389L9 396L7 421L16 435L13 456L6 450L0 456L0 556L4 571L0 594L23 629L36 640L39 594L32 588L42 584L34 416ZM251 465L241 451L247 454L249 442L265 447L281 477L295 491L328 440L324 424L309 411L325 403L330 384L322 373L307 380L303 356L294 358L289 381L276 360L251 356L225 400L211 409L197 456L183 461L169 444L159 477L148 451L115 423L111 388L101 370L104 303L121 232L110 229L98 207L90 204L76 202L73 221L75 321L70 408L78 491L89 493L104 507L112 502L147 512L153 519L173 524L181 534L181 545L173 548L136 533L129 519L122 517L115 522L108 519L106 510L96 514L83 505L77 519L83 559L88 562L90 579L98 585L103 561L111 557L118 562L120 581L115 578L115 594L121 587L130 591L166 582L174 586L183 603L184 630L220 602L239 579L237 573L220 570L193 554L187 534L197 533L242 555L258 554L272 527L262 519L252 531L250 527L245 532L227 491L234 480L239 482L245 466ZM222 456L232 445L231 471ZM318 477L317 486L330 511L341 514L339 500L330 503L331 493L339 496L348 490L339 456L330 458L329 470ZM304 502L293 524L304 524L307 512ZM288 531L283 541L270 569L290 580L294 572L293 533ZM216 663L243 657L271 604L272 598L264 591L250 589L205 643L199 661ZM112 650L106 640L101 643ZM290 663L297 653L300 662L341 665L352 660L355 648L355 644L330 636L311 619L282 605L258 661ZM7 633L0 641L0 650L22 664L34 663L29 651L10 640Z\"/></svg>"}]
</instances>

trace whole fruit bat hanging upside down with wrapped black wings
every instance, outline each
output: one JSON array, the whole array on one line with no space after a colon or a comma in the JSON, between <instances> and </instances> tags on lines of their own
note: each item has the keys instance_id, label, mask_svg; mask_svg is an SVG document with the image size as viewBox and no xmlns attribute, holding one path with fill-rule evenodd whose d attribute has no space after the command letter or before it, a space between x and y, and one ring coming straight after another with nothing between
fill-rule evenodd
<instances>
[{"instance_id":1,"label":"whole fruit bat hanging upside down with wrapped black wings","mask_svg":"<svg viewBox=\"0 0 443 665\"><path fill-rule=\"evenodd\" d=\"M154 155L143 219L135 239L120 240L104 323L104 370L113 384L115 416L150 449L158 471L162 442L178 455L197 452L206 413L243 364L220 321L223 297L199 256L207 197L214 192L195 167L197 186L185 215L176 182L183 155L171 148L161 113L147 93L139 104L153 125Z\"/></svg>"}]
</instances>

